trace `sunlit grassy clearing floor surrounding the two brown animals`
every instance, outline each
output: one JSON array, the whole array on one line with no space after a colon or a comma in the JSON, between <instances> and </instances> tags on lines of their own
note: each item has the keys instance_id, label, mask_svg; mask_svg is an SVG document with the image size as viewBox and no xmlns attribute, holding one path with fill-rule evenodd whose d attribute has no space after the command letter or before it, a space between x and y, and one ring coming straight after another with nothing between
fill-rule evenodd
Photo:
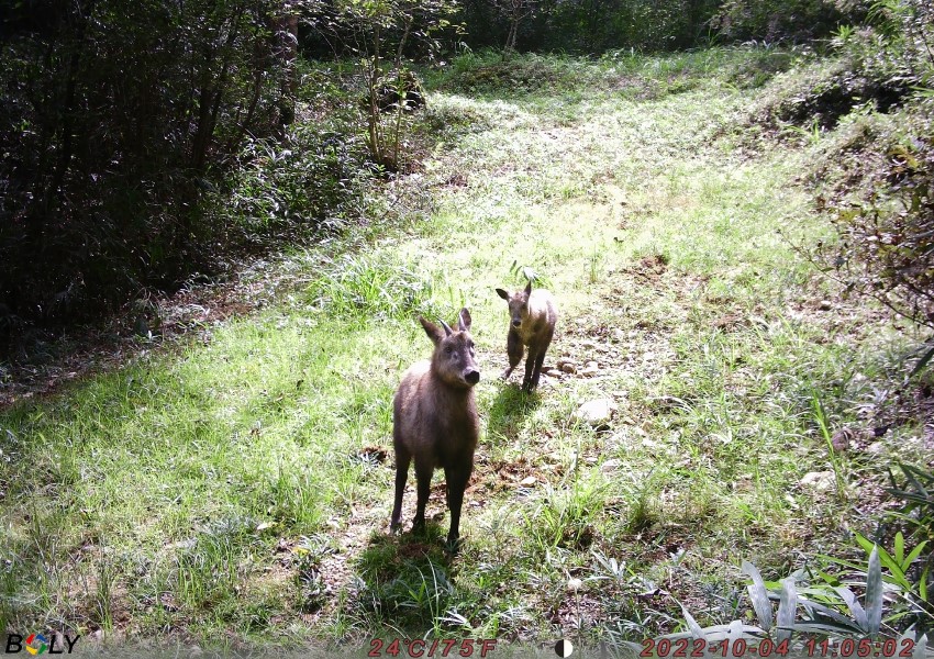
<instances>
[{"instance_id":1,"label":"sunlit grassy clearing floor surrounding the two brown animals","mask_svg":"<svg viewBox=\"0 0 934 659\"><path fill-rule=\"evenodd\" d=\"M196 304L184 339L8 405L0 628L194 654L613 649L682 629L681 606L746 616L744 560L769 580L865 562L853 534L891 506L887 468L934 457L923 418L890 418L897 395L930 398L898 376L919 337L796 248L829 235L804 176L820 136L753 132L763 90L723 72L742 57L578 63L530 86L466 68L430 94L421 161L370 192L391 222L260 264L213 302L241 313ZM498 378L493 289L522 267L560 314L529 395ZM413 477L388 534L391 398L431 351L419 313L460 306L482 435L449 556L440 476L427 536L409 533ZM580 418L594 400L610 416Z\"/></svg>"}]
</instances>

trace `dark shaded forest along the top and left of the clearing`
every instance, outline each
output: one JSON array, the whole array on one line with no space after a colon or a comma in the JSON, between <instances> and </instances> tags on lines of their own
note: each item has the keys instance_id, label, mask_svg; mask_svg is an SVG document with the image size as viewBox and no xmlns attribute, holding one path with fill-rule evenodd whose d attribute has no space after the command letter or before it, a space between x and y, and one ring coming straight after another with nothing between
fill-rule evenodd
<instances>
[{"instance_id":1,"label":"dark shaded forest along the top and left of the clearing","mask_svg":"<svg viewBox=\"0 0 934 659\"><path fill-rule=\"evenodd\" d=\"M394 144L380 132L374 97L398 87L403 67L479 48L504 58L748 42L820 51L856 26L865 52L850 72L875 71L874 83L903 96L924 83L913 63L930 57L930 13L909 0L8 2L0 348L23 327L92 320L338 226L356 172L398 169L398 132ZM919 38L893 48L912 25ZM297 98L310 60L347 63L368 96L332 86ZM289 129L297 103L318 118L300 139ZM338 116L340 127L329 123ZM296 148L316 156L285 199L232 201L237 171Z\"/></svg>"}]
</instances>

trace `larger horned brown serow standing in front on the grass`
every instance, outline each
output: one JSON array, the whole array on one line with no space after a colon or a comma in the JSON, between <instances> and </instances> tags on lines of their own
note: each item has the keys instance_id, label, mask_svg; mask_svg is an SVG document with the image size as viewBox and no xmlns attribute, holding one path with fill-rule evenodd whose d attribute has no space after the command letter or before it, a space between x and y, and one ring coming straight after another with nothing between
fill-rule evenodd
<instances>
[{"instance_id":1,"label":"larger horned brown serow standing in front on the grass","mask_svg":"<svg viewBox=\"0 0 934 659\"><path fill-rule=\"evenodd\" d=\"M460 507L464 490L474 471L474 451L480 434L474 386L480 380L470 337L470 312L460 310L455 332L444 321L441 327L419 319L434 343L431 361L413 365L396 390L392 417L392 444L396 447L396 502L391 528L399 527L402 493L409 478L409 463L415 461L418 505L413 529L425 524L432 474L444 469L447 507L451 509L448 547L460 535Z\"/></svg>"}]
</instances>

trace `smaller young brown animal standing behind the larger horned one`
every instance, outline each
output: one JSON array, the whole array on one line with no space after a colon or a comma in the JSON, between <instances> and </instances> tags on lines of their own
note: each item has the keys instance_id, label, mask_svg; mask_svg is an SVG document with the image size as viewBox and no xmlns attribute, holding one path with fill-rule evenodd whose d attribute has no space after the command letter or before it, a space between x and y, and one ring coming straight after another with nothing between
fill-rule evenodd
<instances>
[{"instance_id":1,"label":"smaller young brown animal standing behind the larger horned one","mask_svg":"<svg viewBox=\"0 0 934 659\"><path fill-rule=\"evenodd\" d=\"M509 379L512 370L522 360L525 346L529 346L522 389L532 391L538 387L545 351L555 335L555 323L558 321L555 299L545 289L533 291L531 281L525 290L509 294L497 289L497 294L509 303L509 334L505 337L509 368L503 371L502 379Z\"/></svg>"}]
</instances>

